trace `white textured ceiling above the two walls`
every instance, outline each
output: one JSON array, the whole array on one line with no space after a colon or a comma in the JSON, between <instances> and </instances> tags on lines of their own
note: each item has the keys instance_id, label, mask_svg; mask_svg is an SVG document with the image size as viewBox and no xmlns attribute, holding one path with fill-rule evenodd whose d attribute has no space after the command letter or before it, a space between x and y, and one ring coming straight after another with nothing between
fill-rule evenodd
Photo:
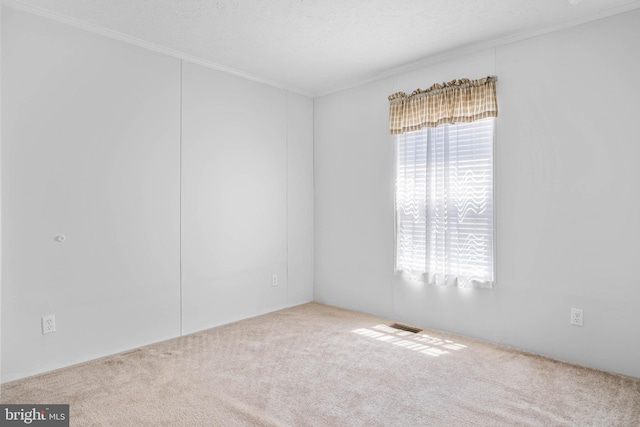
<instances>
[{"instance_id":1,"label":"white textured ceiling above the two walls","mask_svg":"<svg viewBox=\"0 0 640 427\"><path fill-rule=\"evenodd\" d=\"M640 8L637 0L3 3L71 18L310 95L369 81L444 52L487 46Z\"/></svg>"}]
</instances>

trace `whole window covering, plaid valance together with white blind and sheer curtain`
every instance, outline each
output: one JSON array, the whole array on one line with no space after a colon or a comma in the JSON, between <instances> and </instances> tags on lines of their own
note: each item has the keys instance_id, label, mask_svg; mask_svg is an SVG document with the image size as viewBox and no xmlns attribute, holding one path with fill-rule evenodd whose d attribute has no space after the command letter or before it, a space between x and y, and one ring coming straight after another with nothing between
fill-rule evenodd
<instances>
[{"instance_id":1,"label":"whole window covering, plaid valance together with white blind and sheer curtain","mask_svg":"<svg viewBox=\"0 0 640 427\"><path fill-rule=\"evenodd\" d=\"M396 273L491 288L496 76L389 96L396 137Z\"/></svg>"}]
</instances>

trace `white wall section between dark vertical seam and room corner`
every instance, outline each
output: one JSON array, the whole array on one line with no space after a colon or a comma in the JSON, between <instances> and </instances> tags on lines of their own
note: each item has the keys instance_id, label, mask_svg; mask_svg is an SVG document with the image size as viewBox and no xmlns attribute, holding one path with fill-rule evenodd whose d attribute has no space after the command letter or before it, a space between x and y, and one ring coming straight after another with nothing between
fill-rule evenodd
<instances>
[{"instance_id":1,"label":"white wall section between dark vertical seam and room corner","mask_svg":"<svg viewBox=\"0 0 640 427\"><path fill-rule=\"evenodd\" d=\"M309 98L185 63L183 332L312 299L312 174L295 169L312 162L312 106ZM289 120L288 110L299 117ZM291 278L289 244L299 256Z\"/></svg>"}]
</instances>

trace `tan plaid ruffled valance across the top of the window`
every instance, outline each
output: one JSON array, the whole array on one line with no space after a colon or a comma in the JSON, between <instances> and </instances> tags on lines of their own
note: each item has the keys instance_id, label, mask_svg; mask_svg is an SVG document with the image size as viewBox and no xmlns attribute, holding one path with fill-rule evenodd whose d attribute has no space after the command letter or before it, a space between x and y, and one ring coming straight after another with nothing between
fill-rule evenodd
<instances>
[{"instance_id":1,"label":"tan plaid ruffled valance across the top of the window","mask_svg":"<svg viewBox=\"0 0 640 427\"><path fill-rule=\"evenodd\" d=\"M389 96L389 130L400 134L442 123L472 122L498 116L496 76L434 84L411 95Z\"/></svg>"}]
</instances>

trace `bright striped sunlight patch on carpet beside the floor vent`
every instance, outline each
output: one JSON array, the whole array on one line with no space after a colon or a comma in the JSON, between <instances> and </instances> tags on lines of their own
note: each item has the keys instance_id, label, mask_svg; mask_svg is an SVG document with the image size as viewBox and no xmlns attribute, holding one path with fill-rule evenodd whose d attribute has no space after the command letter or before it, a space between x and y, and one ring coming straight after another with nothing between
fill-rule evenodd
<instances>
[{"instance_id":1,"label":"bright striped sunlight patch on carpet beside the floor vent","mask_svg":"<svg viewBox=\"0 0 640 427\"><path fill-rule=\"evenodd\" d=\"M352 331L355 334L373 338L378 341L417 351L428 356L440 357L467 348L466 345L433 337L427 334L417 334L399 330L387 325L376 325L371 328L359 328Z\"/></svg>"}]
</instances>

